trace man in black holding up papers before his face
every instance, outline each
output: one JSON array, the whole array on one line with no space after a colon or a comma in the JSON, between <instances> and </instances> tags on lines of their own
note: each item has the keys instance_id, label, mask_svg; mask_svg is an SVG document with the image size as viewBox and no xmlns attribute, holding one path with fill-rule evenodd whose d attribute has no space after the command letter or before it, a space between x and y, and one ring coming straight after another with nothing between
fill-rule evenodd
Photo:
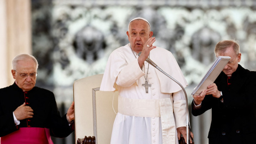
<instances>
[{"instance_id":1,"label":"man in black holding up papers before his face","mask_svg":"<svg viewBox=\"0 0 256 144\"><path fill-rule=\"evenodd\" d=\"M193 95L192 114L198 116L212 109L209 144L255 143L255 73L238 64L241 53L236 41L220 41L214 52L216 57L231 59L214 83Z\"/></svg>"}]
</instances>

